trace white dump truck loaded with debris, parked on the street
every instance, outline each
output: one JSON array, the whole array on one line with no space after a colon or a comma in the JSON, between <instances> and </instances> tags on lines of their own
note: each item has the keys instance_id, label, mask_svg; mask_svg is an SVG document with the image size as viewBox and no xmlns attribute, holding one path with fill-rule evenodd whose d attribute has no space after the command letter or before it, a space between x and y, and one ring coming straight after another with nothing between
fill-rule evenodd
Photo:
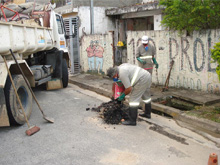
<instances>
[{"instance_id":1,"label":"white dump truck loaded with debris, parked on the street","mask_svg":"<svg viewBox=\"0 0 220 165\"><path fill-rule=\"evenodd\" d=\"M46 84L50 90L54 86L68 86L69 55L62 16L53 10L43 14L44 17L38 19L40 26L24 23L28 21L26 19L20 23L0 22L0 126L25 123L5 59L26 116L29 118L32 112L32 94L12 58L12 52L31 87Z\"/></svg>"}]
</instances>

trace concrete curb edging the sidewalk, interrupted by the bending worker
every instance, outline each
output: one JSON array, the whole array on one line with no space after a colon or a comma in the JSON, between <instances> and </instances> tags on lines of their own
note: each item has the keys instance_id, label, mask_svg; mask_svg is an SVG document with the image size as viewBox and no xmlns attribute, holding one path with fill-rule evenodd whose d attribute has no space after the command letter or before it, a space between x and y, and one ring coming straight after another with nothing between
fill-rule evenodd
<instances>
[{"instance_id":1,"label":"concrete curb edging the sidewalk, interrupted by the bending worker","mask_svg":"<svg viewBox=\"0 0 220 165\"><path fill-rule=\"evenodd\" d=\"M112 93L109 92L109 90L104 90L103 88L94 87L86 83L81 83L81 82L71 80L71 79L69 79L69 83L72 83L84 89L94 91L100 95L103 95L109 98L112 95ZM215 137L216 136L220 137L220 124L219 123L215 123L207 119L201 119L201 118L197 118L194 116L189 116L176 108L168 107L162 104L152 102L151 105L152 105L152 109L155 109L157 111L160 111L160 112L163 112L163 113L166 113L172 116L177 122L181 121L181 122L187 123L191 128L194 128L194 131L203 130L211 135L214 134L213 136Z\"/></svg>"}]
</instances>

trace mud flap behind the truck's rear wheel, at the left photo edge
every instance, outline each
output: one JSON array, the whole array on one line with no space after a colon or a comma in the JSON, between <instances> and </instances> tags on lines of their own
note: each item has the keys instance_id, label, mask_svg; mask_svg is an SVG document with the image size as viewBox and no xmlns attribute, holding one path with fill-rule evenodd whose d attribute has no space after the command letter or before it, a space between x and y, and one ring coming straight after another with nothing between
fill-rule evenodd
<instances>
[{"instance_id":1,"label":"mud flap behind the truck's rear wheel, at the left photo edge","mask_svg":"<svg viewBox=\"0 0 220 165\"><path fill-rule=\"evenodd\" d=\"M10 126L3 88L0 88L0 98L0 127Z\"/></svg>"}]
</instances>

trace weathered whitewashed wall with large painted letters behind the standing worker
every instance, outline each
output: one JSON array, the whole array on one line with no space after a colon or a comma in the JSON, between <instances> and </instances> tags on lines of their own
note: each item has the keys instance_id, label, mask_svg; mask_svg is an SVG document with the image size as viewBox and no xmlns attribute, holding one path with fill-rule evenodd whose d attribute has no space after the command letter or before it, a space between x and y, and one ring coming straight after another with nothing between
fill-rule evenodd
<instances>
[{"instance_id":1,"label":"weathered whitewashed wall with large painted letters behind the standing worker","mask_svg":"<svg viewBox=\"0 0 220 165\"><path fill-rule=\"evenodd\" d=\"M216 63L210 63L210 48L219 42L220 30L195 32L192 37L179 36L169 31L129 31L127 32L128 63L137 64L135 52L141 44L141 37L148 35L149 42L156 47L156 59L159 63L159 84L164 85L170 62L171 71L169 86L220 93L220 83L215 72ZM153 71L153 82L158 83L156 70Z\"/></svg>"}]
</instances>

